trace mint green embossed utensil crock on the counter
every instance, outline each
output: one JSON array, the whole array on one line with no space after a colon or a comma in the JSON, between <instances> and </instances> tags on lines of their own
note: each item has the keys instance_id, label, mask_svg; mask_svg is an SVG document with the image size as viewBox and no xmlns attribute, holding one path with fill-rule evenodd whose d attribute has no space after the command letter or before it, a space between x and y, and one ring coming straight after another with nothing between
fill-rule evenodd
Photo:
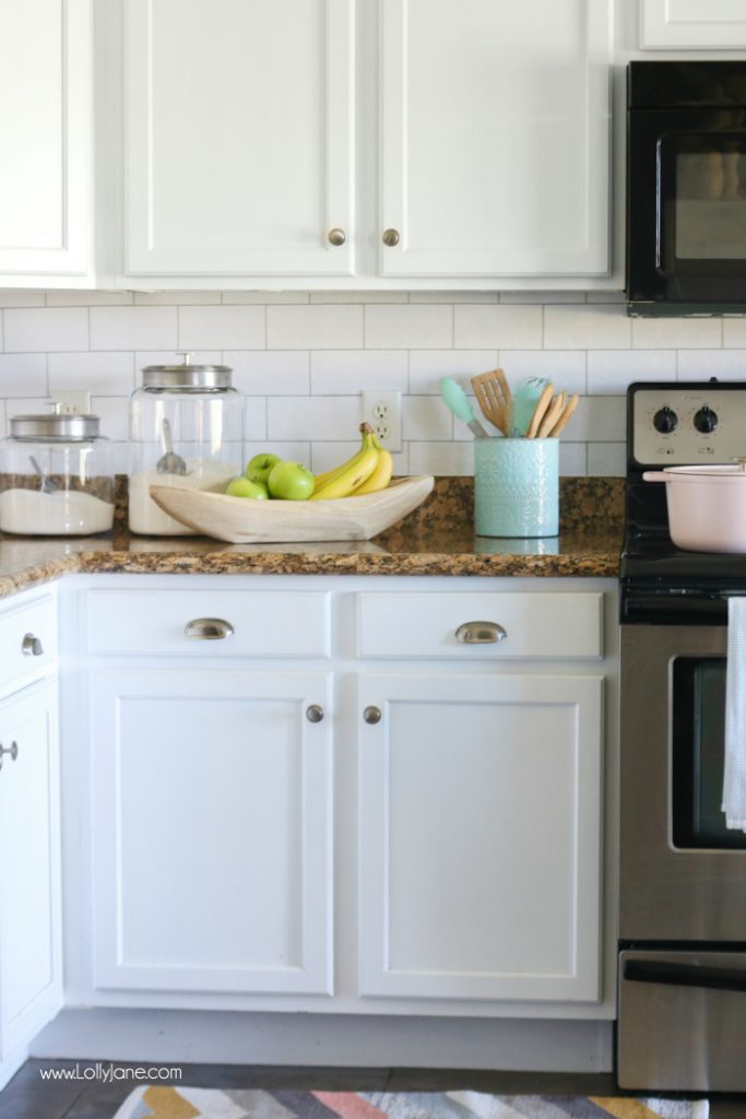
<instances>
[{"instance_id":1,"label":"mint green embossed utensil crock on the counter","mask_svg":"<svg viewBox=\"0 0 746 1119\"><path fill-rule=\"evenodd\" d=\"M478 536L556 536L559 440L474 440Z\"/></svg>"}]
</instances>

